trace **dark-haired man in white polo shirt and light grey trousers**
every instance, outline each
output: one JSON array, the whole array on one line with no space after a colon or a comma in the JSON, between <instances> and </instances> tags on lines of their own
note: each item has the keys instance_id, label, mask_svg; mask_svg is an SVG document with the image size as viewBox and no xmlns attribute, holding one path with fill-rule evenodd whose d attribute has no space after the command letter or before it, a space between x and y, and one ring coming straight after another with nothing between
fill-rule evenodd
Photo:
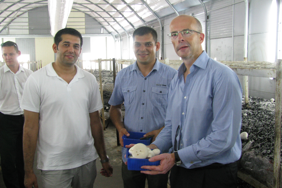
<instances>
[{"instance_id":1,"label":"dark-haired man in white polo shirt and light grey trousers","mask_svg":"<svg viewBox=\"0 0 282 188\"><path fill-rule=\"evenodd\" d=\"M25 186L37 187L33 159L45 188L91 187L100 156L102 175L112 176L98 110L103 107L94 75L75 65L82 36L64 28L54 37L56 61L36 71L26 82L24 100Z\"/></svg>"}]
</instances>

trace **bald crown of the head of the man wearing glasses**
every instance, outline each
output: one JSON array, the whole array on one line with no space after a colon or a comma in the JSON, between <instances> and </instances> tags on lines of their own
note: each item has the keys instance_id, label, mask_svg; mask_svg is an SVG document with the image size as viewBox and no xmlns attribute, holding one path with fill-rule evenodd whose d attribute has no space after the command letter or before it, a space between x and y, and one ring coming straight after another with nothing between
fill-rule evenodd
<instances>
[{"instance_id":1,"label":"bald crown of the head of the man wearing glasses","mask_svg":"<svg viewBox=\"0 0 282 188\"><path fill-rule=\"evenodd\" d=\"M190 23L193 26L193 30L198 31L199 33L202 33L202 25L200 21L193 16L188 16L188 15L179 15L175 17L169 24L169 28L172 24L175 23ZM188 29L188 28L187 28ZM192 29L192 28L189 28Z\"/></svg>"}]
</instances>

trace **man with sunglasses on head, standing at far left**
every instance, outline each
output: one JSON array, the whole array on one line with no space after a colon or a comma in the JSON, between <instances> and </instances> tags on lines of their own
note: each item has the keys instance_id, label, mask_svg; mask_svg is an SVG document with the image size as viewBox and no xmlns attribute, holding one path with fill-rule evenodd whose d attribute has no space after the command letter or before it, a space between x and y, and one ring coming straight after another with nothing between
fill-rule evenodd
<instances>
[{"instance_id":1,"label":"man with sunglasses on head, standing at far left","mask_svg":"<svg viewBox=\"0 0 282 188\"><path fill-rule=\"evenodd\" d=\"M20 108L24 85L33 72L20 66L18 45L1 44L5 65L0 68L0 157L7 188L24 188L23 127Z\"/></svg>"}]
</instances>

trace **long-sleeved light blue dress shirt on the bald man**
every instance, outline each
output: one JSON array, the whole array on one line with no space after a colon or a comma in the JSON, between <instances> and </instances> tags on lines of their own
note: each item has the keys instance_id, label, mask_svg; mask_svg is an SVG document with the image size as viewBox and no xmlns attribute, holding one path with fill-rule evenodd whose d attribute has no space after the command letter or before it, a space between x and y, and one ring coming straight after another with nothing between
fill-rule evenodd
<instances>
[{"instance_id":1,"label":"long-sleeved light blue dress shirt on the bald man","mask_svg":"<svg viewBox=\"0 0 282 188\"><path fill-rule=\"evenodd\" d=\"M185 70L182 63L178 76L171 82L165 128L153 144L162 152L174 147L180 125L176 149L182 167L238 160L241 156L242 88L236 73L209 58L205 51L191 66L186 83Z\"/></svg>"}]
</instances>

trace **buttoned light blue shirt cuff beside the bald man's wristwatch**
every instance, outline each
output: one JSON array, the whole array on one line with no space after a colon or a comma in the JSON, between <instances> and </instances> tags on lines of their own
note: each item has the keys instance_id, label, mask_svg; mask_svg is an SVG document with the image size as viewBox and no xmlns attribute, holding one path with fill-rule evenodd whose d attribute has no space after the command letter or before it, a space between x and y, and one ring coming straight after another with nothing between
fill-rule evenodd
<instances>
[{"instance_id":1,"label":"buttoned light blue shirt cuff beside the bald man's wristwatch","mask_svg":"<svg viewBox=\"0 0 282 188\"><path fill-rule=\"evenodd\" d=\"M178 150L177 153L183 163L181 166L184 165L185 168L189 168L193 164L201 162L201 160L199 160L199 158L195 155L192 146Z\"/></svg>"}]
</instances>

